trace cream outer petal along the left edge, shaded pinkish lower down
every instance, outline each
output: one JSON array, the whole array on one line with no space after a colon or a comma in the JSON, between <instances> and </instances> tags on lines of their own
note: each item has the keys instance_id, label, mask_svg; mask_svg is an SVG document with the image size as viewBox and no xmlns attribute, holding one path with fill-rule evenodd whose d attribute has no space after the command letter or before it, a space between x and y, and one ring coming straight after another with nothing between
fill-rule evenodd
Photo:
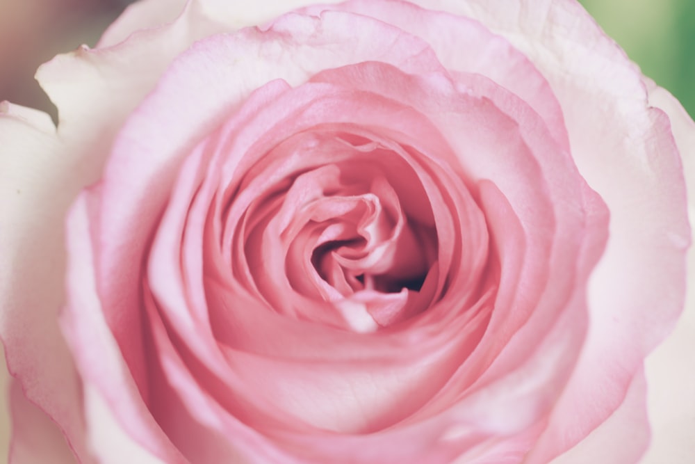
<instances>
[{"instance_id":1,"label":"cream outer petal along the left edge, shaded pinkish lower down","mask_svg":"<svg viewBox=\"0 0 695 464\"><path fill-rule=\"evenodd\" d=\"M39 111L0 104L0 140L0 337L8 369L88 463L79 381L57 323L63 218L83 172Z\"/></svg>"}]
</instances>

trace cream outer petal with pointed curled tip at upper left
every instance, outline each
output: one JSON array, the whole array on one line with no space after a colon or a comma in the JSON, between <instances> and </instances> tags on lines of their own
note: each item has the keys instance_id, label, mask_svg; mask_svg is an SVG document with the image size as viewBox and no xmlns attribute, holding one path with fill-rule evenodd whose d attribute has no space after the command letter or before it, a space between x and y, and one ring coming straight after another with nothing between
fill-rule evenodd
<instances>
[{"instance_id":1,"label":"cream outer petal with pointed curled tip at upper left","mask_svg":"<svg viewBox=\"0 0 695 464\"><path fill-rule=\"evenodd\" d=\"M250 8L238 1L188 0L181 10L183 0L141 1L117 19L96 49L83 45L56 56L36 77L58 107L60 136L92 154L106 153L127 115L193 42L263 24L306 3L276 0ZM95 159L100 168L103 159Z\"/></svg>"}]
</instances>

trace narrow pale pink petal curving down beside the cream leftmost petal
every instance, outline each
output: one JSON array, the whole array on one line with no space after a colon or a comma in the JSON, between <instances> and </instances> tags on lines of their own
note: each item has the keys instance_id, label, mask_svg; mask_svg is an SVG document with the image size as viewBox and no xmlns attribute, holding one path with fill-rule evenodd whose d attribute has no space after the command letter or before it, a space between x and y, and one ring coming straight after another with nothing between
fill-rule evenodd
<instances>
[{"instance_id":1,"label":"narrow pale pink petal curving down beside the cream leftmost petal","mask_svg":"<svg viewBox=\"0 0 695 464\"><path fill-rule=\"evenodd\" d=\"M74 361L80 371L83 389L95 394L85 398L89 421L85 438L96 442L108 440L114 427L120 426L128 435L115 435L129 442L136 456L157 456L170 463L185 461L161 428L154 422L147 404L138 390L129 366L123 360L113 334L106 325L102 302L95 279L95 256L90 237L88 193L83 193L72 207L68 218L67 248L70 266L67 273L67 305L60 316L65 337L70 343ZM105 406L100 406L104 401ZM91 408L90 408L91 407ZM98 408L97 411L92 408ZM115 415L115 420L105 417ZM99 416L95 419L95 415ZM118 424L118 426L113 425ZM111 431L104 431L110 428ZM107 429L108 430L108 429ZM142 448L142 449L139 449ZM113 454L111 447L97 448L97 453Z\"/></svg>"}]
</instances>

